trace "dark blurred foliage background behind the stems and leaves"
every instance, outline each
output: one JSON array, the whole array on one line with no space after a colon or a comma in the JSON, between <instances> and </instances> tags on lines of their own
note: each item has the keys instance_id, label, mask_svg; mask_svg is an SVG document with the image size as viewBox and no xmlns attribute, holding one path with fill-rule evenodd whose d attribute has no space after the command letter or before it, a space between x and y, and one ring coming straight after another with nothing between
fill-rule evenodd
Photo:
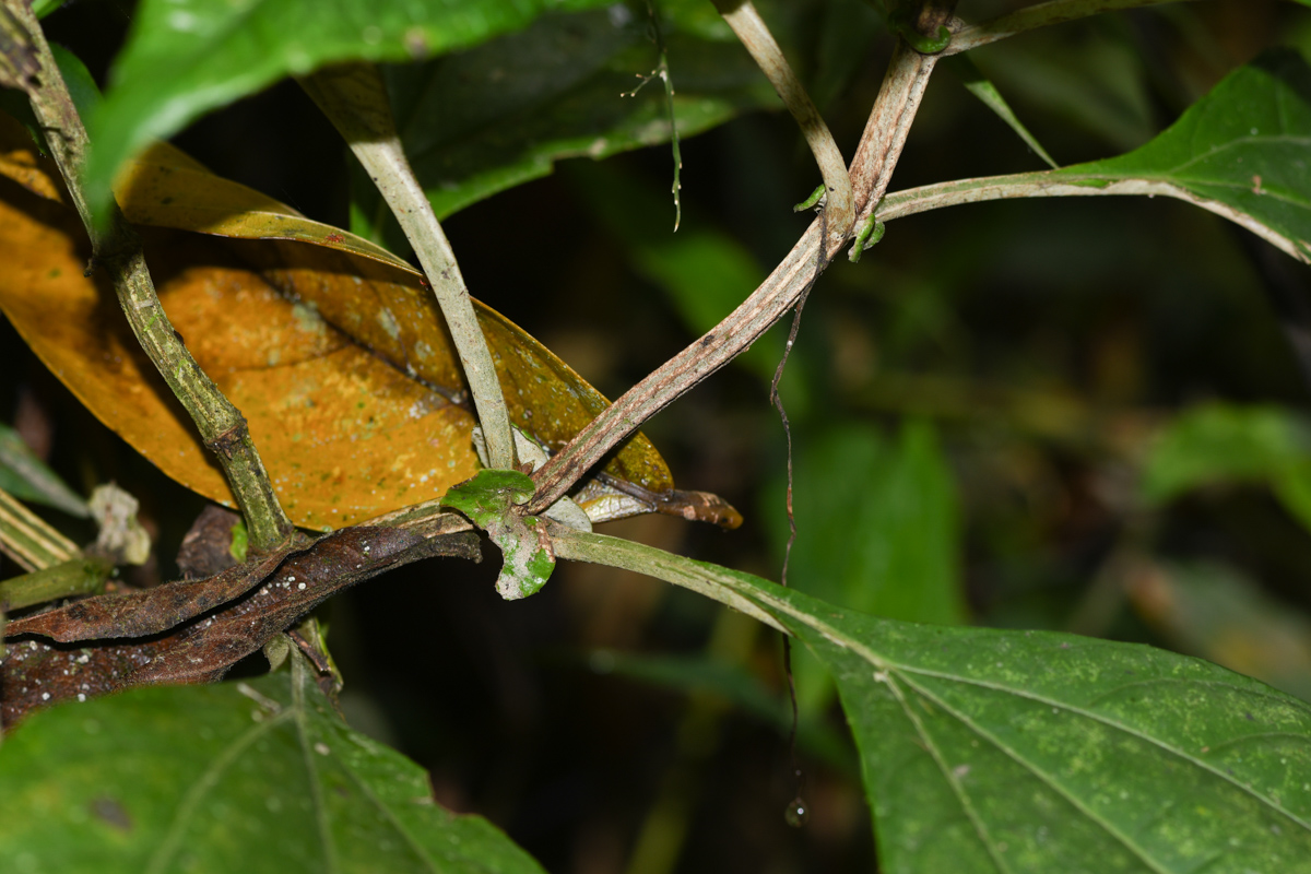
<instances>
[{"instance_id":1,"label":"dark blurred foliage background behind the stems and leaves","mask_svg":"<svg viewBox=\"0 0 1311 874\"><path fill-rule=\"evenodd\" d=\"M958 13L1019 5L962 0ZM865 0L797 9L780 39L850 155L891 39ZM80 0L47 28L104 84L131 16L126 0ZM1211 0L973 59L1066 165L1142 144L1278 43L1311 51L1307 9ZM675 50L670 68L676 88ZM291 83L177 144L350 224L346 149ZM791 204L818 174L785 114L737 118L686 140L683 159L678 233L667 147L566 161L455 214L444 224L471 290L623 393L745 297L809 220ZM1041 168L944 64L893 190ZM783 381L789 583L898 618L1148 642L1311 698L1311 358L1295 351L1308 294L1304 267L1177 202L1015 200L890 224L859 266L825 274ZM724 495L746 525L650 516L610 533L777 578L787 463L767 392L781 347L775 329L645 428L682 487ZM3 321L0 368L0 422L75 487L115 480L138 495L157 554L132 573L169 579L201 499L81 410ZM439 801L485 814L553 871L873 866L818 664L796 662L813 815L792 829L776 636L590 566L502 603L494 565L410 566L326 616L351 722L430 769Z\"/></svg>"}]
</instances>

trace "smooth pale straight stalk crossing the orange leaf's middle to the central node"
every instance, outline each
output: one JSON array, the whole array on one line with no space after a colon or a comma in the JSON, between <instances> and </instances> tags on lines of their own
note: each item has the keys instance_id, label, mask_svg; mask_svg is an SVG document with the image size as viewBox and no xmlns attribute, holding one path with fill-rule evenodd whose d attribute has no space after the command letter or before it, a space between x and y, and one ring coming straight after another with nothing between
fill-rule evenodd
<instances>
[{"instance_id":1,"label":"smooth pale straight stalk crossing the orange leaf's middle to the central node","mask_svg":"<svg viewBox=\"0 0 1311 874\"><path fill-rule=\"evenodd\" d=\"M346 139L414 246L464 368L486 439L488 461L493 468L514 469L510 413L501 394L492 351L451 244L405 159L378 68L367 63L328 67L300 79L300 85Z\"/></svg>"}]
</instances>

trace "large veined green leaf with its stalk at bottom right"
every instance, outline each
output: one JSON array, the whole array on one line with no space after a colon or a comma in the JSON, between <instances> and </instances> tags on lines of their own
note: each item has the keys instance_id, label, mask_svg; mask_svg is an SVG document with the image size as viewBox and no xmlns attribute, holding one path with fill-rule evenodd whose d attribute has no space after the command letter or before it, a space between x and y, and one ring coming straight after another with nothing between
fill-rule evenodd
<instances>
[{"instance_id":1,"label":"large veined green leaf with its stalk at bottom right","mask_svg":"<svg viewBox=\"0 0 1311 874\"><path fill-rule=\"evenodd\" d=\"M1051 632L916 625L615 537L830 667L885 874L1311 871L1311 705L1215 664Z\"/></svg>"}]
</instances>

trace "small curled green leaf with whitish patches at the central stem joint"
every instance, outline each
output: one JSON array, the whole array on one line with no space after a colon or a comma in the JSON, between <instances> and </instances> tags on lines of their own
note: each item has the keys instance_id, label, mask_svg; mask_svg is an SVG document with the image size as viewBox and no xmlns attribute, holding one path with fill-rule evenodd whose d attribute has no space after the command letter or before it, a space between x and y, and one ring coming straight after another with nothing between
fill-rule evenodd
<instances>
[{"instance_id":1,"label":"small curled green leaf with whitish patches at the central stem joint","mask_svg":"<svg viewBox=\"0 0 1311 874\"><path fill-rule=\"evenodd\" d=\"M515 507L532 499L534 489L532 477L526 473L479 470L442 495L442 506L463 514L499 546L503 561L496 588L506 600L539 592L556 566L545 519L515 512Z\"/></svg>"}]
</instances>

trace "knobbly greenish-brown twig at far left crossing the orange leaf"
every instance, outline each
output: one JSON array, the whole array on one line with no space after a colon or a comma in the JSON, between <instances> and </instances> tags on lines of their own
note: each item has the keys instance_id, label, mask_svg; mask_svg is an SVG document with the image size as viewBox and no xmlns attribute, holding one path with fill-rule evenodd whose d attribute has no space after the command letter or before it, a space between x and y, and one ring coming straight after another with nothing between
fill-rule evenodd
<instances>
[{"instance_id":1,"label":"knobbly greenish-brown twig at far left crossing the orange leaf","mask_svg":"<svg viewBox=\"0 0 1311 874\"><path fill-rule=\"evenodd\" d=\"M50 152L90 237L92 263L88 270L104 269L113 280L118 303L138 342L191 415L205 446L218 456L232 494L246 516L252 545L260 550L271 550L291 537L295 528L278 503L245 418L205 375L173 330L155 294L140 238L128 227L117 204L111 207L108 221L97 221L97 216L92 215L81 186L88 147L87 128L77 117L31 9L24 0L3 3L21 24L24 38L29 41L41 66L41 73L28 79L24 90L31 102L33 114L46 132Z\"/></svg>"}]
</instances>

